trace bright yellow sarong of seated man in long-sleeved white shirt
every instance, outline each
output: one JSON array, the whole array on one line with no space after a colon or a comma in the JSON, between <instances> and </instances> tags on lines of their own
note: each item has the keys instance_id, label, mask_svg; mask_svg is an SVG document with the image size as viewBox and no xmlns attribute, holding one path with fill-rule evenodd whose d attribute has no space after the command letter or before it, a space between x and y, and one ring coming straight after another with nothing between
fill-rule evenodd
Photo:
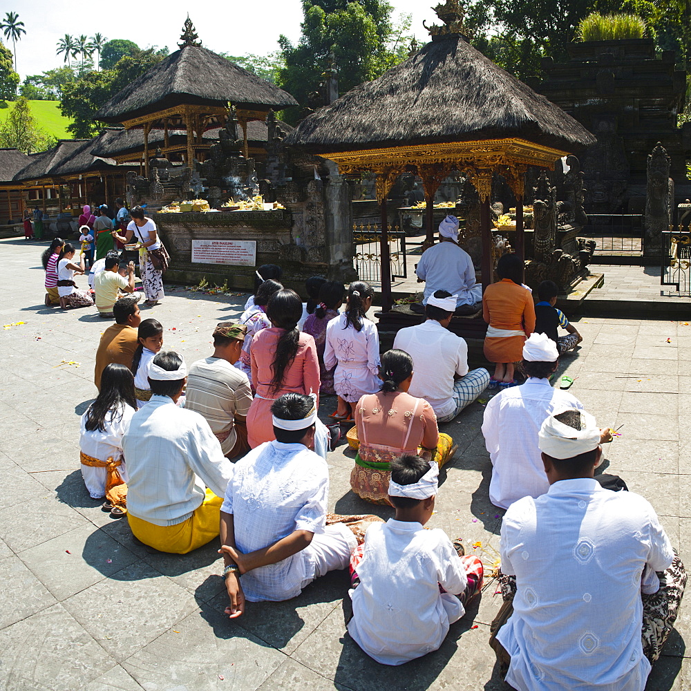
<instances>
[{"instance_id":1,"label":"bright yellow sarong of seated man in long-sleeved white shirt","mask_svg":"<svg viewBox=\"0 0 691 691\"><path fill-rule=\"evenodd\" d=\"M155 525L131 513L127 514L127 520L133 536L144 545L162 552L187 554L218 536L221 504L223 498L207 489L201 506L186 521L177 525Z\"/></svg>"}]
</instances>

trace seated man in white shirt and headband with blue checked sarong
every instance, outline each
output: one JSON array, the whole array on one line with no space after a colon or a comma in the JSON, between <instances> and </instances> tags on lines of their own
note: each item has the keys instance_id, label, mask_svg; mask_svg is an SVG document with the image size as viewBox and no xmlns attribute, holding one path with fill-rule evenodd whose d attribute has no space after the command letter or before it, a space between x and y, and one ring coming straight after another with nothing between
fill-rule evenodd
<instances>
[{"instance_id":1,"label":"seated man in white shirt and headband with blue checked sarong","mask_svg":"<svg viewBox=\"0 0 691 691\"><path fill-rule=\"evenodd\" d=\"M413 358L408 392L432 406L437 422L453 420L489 385L484 368L468 372L468 345L448 330L455 302L455 295L437 290L425 307L427 321L399 330L393 342Z\"/></svg>"}]
</instances>

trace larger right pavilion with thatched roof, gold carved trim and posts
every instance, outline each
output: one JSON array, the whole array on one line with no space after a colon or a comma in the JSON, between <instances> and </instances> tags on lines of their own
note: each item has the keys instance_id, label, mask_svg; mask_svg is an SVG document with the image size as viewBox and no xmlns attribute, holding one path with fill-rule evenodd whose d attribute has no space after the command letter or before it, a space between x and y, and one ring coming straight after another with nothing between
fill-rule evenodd
<instances>
[{"instance_id":1,"label":"larger right pavilion with thatched roof, gold carved trim and posts","mask_svg":"<svg viewBox=\"0 0 691 691\"><path fill-rule=\"evenodd\" d=\"M428 28L432 41L422 50L305 118L285 140L334 161L341 174L377 174L384 312L392 306L386 198L401 173L422 178L428 228L442 180L458 171L473 182L481 203L486 286L493 278L493 175L503 176L515 194L516 249L522 254L527 167L553 169L562 156L596 141L574 118L468 43L458 0L446 0L435 12L444 26Z\"/></svg>"}]
</instances>

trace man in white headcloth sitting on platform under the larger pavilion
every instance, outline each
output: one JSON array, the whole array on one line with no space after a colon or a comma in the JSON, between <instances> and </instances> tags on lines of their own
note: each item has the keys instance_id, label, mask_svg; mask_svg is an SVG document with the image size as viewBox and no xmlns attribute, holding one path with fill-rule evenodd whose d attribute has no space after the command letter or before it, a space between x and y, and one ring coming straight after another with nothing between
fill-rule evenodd
<instances>
[{"instance_id":1,"label":"man in white headcloth sitting on platform under the larger pavilion","mask_svg":"<svg viewBox=\"0 0 691 691\"><path fill-rule=\"evenodd\" d=\"M456 314L473 314L476 303L482 302L482 286L475 283L475 267L470 255L458 245L458 219L446 216L439 224L439 243L426 249L417 263L418 281L425 281L426 305L436 290L450 290L455 295ZM413 309L413 307L415 309ZM413 305L414 312L422 314L420 305Z\"/></svg>"}]
</instances>

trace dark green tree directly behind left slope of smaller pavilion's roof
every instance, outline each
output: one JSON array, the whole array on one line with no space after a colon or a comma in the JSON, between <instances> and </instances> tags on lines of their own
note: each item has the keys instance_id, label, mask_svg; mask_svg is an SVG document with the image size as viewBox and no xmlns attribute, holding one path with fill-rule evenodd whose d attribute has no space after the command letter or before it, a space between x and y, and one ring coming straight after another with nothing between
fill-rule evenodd
<instances>
[{"instance_id":1,"label":"dark green tree directly behind left slope of smaller pavilion's roof","mask_svg":"<svg viewBox=\"0 0 691 691\"><path fill-rule=\"evenodd\" d=\"M135 56L120 58L113 69L90 70L75 82L65 84L60 110L73 121L67 129L77 138L89 138L99 133L105 125L94 120L96 111L163 57L162 51L155 48L138 50Z\"/></svg>"}]
</instances>

